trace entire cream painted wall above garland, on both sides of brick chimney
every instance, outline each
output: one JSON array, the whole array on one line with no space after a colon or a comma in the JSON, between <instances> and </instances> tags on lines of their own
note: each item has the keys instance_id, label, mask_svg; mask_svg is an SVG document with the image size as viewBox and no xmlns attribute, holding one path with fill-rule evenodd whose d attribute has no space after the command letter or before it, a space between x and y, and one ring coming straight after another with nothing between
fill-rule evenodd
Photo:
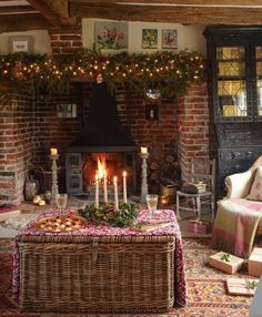
<instances>
[{"instance_id":1,"label":"entire cream painted wall above garland, on both sides of brick chimney","mask_svg":"<svg viewBox=\"0 0 262 317\"><path fill-rule=\"evenodd\" d=\"M92 49L94 42L94 19L82 19L83 45ZM105 20L101 20L105 21ZM153 22L129 22L129 53L152 53L161 50L162 29L178 30L178 50L189 49L205 55L205 38L203 30L205 25L192 24L182 25L177 23L153 23ZM142 29L158 29L158 49L142 49ZM32 52L34 54L51 54L50 39L47 30L33 30L27 32L0 33L0 55L9 53L9 37L30 35L32 37ZM114 53L119 51L108 51Z\"/></svg>"}]
</instances>

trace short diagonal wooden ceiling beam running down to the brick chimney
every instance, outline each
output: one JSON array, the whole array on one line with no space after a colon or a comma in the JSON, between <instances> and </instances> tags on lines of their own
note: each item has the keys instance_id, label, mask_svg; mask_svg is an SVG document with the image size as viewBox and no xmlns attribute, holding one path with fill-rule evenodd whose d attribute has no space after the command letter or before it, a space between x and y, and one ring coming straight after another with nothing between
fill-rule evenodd
<instances>
[{"instance_id":1,"label":"short diagonal wooden ceiling beam running down to the brick chimney","mask_svg":"<svg viewBox=\"0 0 262 317\"><path fill-rule=\"evenodd\" d=\"M69 17L68 0L28 0L54 28L77 27L77 18Z\"/></svg>"}]
</instances>

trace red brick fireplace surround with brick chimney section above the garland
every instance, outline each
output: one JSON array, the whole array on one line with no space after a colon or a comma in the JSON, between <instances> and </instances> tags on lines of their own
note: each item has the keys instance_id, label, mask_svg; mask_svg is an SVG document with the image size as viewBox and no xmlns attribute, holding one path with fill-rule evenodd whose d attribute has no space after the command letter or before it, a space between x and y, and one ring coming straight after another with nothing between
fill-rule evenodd
<instances>
[{"instance_id":1,"label":"red brick fireplace surround with brick chimney section above the garland","mask_svg":"<svg viewBox=\"0 0 262 317\"><path fill-rule=\"evenodd\" d=\"M81 47L81 33L75 30L52 31L50 40L53 53L72 53ZM39 167L51 170L50 147L58 147L59 152L59 191L67 190L66 154L72 153L68 149L81 132L83 123L88 122L91 100L92 83L74 82L69 96L54 99L40 95L32 99L28 92L20 92L8 105L1 106L1 202L19 204L23 200L29 171ZM192 85L183 99L165 98L154 103L125 85L119 85L115 101L121 124L134 142L131 153L135 155L135 171L132 173L137 175L134 190L138 194L141 181L140 146L147 146L150 153L148 181L151 192L159 191L162 178L177 181L180 173L182 178L187 178L191 157L213 155L211 144L214 145L214 137L205 83ZM58 116L57 106L67 103L77 105L75 117ZM150 109L158 111L155 117L149 115ZM109 153L104 150L101 152ZM90 155L93 151L89 149L84 153ZM123 155L124 160L130 161Z\"/></svg>"}]
</instances>

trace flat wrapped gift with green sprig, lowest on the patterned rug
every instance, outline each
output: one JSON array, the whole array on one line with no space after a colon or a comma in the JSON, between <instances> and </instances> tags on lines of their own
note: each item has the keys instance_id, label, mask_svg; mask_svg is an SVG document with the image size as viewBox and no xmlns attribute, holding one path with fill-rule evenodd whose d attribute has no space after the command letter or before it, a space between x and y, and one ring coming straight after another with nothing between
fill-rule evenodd
<instances>
[{"instance_id":1,"label":"flat wrapped gift with green sprig, lowest on the patterned rug","mask_svg":"<svg viewBox=\"0 0 262 317\"><path fill-rule=\"evenodd\" d=\"M246 295L252 296L256 287L251 287L252 284L259 284L259 279L249 278L226 278L226 288L230 295Z\"/></svg>"}]
</instances>

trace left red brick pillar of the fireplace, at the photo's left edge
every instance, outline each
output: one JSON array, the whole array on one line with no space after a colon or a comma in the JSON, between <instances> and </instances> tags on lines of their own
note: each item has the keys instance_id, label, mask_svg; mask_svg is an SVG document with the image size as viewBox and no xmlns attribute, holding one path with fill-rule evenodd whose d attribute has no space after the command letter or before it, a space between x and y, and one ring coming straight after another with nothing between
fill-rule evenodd
<instances>
[{"instance_id":1,"label":"left red brick pillar of the fireplace, at the photo's left edge","mask_svg":"<svg viewBox=\"0 0 262 317\"><path fill-rule=\"evenodd\" d=\"M24 94L0 108L0 202L18 204L23 198L34 154L31 105Z\"/></svg>"}]
</instances>

